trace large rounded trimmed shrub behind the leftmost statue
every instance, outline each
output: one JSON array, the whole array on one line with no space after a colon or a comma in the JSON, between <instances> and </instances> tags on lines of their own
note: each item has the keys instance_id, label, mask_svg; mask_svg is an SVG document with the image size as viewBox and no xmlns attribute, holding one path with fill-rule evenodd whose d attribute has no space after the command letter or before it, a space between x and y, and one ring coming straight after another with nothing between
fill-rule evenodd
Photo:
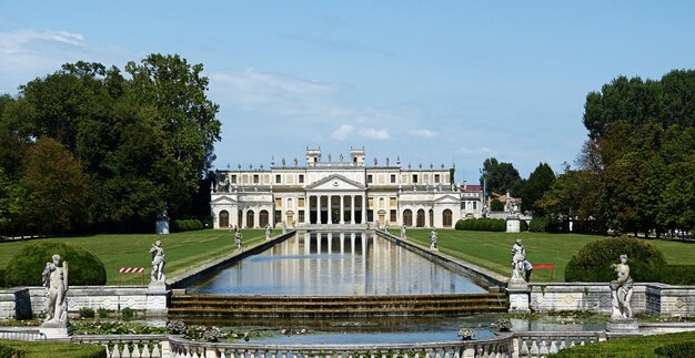
<instances>
[{"instance_id":1,"label":"large rounded trimmed shrub behind the leftmost statue","mask_svg":"<svg viewBox=\"0 0 695 358\"><path fill-rule=\"evenodd\" d=\"M38 243L22 248L8 264L6 280L8 286L41 286L41 273L46 263L59 254L61 265L69 264L68 284L71 286L104 285L107 270L99 257L89 250L63 243Z\"/></svg>"}]
</instances>

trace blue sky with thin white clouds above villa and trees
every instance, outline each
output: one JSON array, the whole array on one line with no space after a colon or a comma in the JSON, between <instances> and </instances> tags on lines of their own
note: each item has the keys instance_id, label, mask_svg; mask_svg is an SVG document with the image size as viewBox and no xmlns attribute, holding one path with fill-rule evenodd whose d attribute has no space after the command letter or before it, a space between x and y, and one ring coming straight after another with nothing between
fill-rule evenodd
<instances>
[{"instance_id":1,"label":"blue sky with thin white clouds above villa and trees","mask_svg":"<svg viewBox=\"0 0 695 358\"><path fill-rule=\"evenodd\" d=\"M574 163L583 105L617 75L695 63L693 1L0 1L0 92L78 60L202 63L220 104L215 166L306 146L367 163L486 157L523 177Z\"/></svg>"}]
</instances>

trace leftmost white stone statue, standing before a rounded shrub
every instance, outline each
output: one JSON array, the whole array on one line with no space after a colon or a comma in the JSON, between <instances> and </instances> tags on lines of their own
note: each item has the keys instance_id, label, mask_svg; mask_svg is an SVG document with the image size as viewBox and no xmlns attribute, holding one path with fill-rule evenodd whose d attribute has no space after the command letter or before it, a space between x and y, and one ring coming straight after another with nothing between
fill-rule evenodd
<instances>
[{"instance_id":1,"label":"leftmost white stone statue, standing before a rounded shrub","mask_svg":"<svg viewBox=\"0 0 695 358\"><path fill-rule=\"evenodd\" d=\"M52 263L46 263L43 268L43 287L46 287L47 307L46 323L68 323L68 262L60 266L60 255L53 255Z\"/></svg>"}]
</instances>

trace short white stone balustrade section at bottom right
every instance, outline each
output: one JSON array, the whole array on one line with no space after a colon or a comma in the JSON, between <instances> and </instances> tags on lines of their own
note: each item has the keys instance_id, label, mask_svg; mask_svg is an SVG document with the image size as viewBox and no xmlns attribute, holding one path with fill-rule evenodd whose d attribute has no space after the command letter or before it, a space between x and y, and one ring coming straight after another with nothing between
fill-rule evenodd
<instances>
[{"instance_id":1,"label":"short white stone balustrade section at bottom right","mask_svg":"<svg viewBox=\"0 0 695 358\"><path fill-rule=\"evenodd\" d=\"M601 331L521 331L513 338L513 357L545 357L562 349L607 339Z\"/></svg>"}]
</instances>

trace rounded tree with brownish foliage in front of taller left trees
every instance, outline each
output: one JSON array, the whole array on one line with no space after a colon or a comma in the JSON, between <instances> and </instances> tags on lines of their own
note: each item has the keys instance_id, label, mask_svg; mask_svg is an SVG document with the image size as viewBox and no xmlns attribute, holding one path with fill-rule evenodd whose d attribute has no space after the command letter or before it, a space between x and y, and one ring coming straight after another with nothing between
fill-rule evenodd
<instances>
[{"instance_id":1,"label":"rounded tree with brownish foliage in front of taller left trees","mask_svg":"<svg viewBox=\"0 0 695 358\"><path fill-rule=\"evenodd\" d=\"M27 190L26 222L40 233L63 233L87 222L87 187L80 165L60 143L37 141L21 180Z\"/></svg>"}]
</instances>

